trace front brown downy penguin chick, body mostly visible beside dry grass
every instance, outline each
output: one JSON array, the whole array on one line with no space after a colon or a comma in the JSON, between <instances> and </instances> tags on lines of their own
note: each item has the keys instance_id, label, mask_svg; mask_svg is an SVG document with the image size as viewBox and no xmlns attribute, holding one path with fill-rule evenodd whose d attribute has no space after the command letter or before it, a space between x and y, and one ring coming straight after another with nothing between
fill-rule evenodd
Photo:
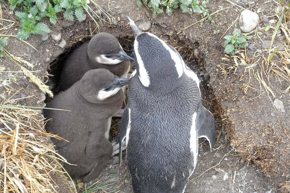
<instances>
[{"instance_id":1,"label":"front brown downy penguin chick, body mostly visible beside dry grass","mask_svg":"<svg viewBox=\"0 0 290 193\"><path fill-rule=\"evenodd\" d=\"M108 163L113 146L108 141L112 116L122 107L121 87L128 78L118 78L107 69L93 69L68 90L56 95L44 117L52 119L46 131L70 142L52 138L58 153L67 159L64 168L83 181L95 179Z\"/></svg>"}]
</instances>

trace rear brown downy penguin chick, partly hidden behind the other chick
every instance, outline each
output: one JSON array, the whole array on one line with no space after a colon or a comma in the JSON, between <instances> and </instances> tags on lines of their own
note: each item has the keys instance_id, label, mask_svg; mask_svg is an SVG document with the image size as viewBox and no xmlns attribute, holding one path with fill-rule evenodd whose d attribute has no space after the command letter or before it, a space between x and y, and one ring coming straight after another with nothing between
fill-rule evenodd
<instances>
[{"instance_id":1,"label":"rear brown downy penguin chick, partly hidden behind the other chick","mask_svg":"<svg viewBox=\"0 0 290 193\"><path fill-rule=\"evenodd\" d=\"M127 78L130 61L134 59L124 52L115 36L104 32L96 34L68 56L61 72L59 91L71 87L91 69L104 68L120 78Z\"/></svg>"}]
</instances>

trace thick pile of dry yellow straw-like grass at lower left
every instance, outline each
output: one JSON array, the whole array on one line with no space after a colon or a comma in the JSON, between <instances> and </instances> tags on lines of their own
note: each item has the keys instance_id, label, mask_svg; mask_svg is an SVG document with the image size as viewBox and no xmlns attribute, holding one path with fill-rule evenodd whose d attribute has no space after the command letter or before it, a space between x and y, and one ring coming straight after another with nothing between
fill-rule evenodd
<instances>
[{"instance_id":1,"label":"thick pile of dry yellow straw-like grass at lower left","mask_svg":"<svg viewBox=\"0 0 290 193\"><path fill-rule=\"evenodd\" d=\"M52 176L67 179L58 166L65 159L59 158L49 141L54 135L45 132L41 111L2 105L0 109L0 191L56 192Z\"/></svg>"}]
</instances>

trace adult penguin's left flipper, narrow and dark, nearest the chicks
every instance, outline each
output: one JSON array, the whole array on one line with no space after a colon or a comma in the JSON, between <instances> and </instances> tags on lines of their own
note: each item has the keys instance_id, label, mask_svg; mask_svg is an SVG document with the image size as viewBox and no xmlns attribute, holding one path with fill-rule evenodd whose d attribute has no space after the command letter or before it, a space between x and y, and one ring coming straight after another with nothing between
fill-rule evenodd
<instances>
[{"instance_id":1,"label":"adult penguin's left flipper, narrow and dark, nearest the chicks","mask_svg":"<svg viewBox=\"0 0 290 193\"><path fill-rule=\"evenodd\" d=\"M120 135L119 135L119 161L120 165L122 163L122 151L123 151L123 142L126 138L127 128L129 122L128 108L126 107L120 124Z\"/></svg>"}]
</instances>

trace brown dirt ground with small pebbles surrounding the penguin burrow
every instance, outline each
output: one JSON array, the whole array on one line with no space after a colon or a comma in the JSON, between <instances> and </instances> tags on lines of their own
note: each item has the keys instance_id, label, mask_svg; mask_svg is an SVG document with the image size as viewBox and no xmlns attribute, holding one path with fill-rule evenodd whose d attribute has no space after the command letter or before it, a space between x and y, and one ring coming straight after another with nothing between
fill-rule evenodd
<instances>
[{"instance_id":1,"label":"brown dirt ground with small pebbles surrounding the penguin burrow","mask_svg":"<svg viewBox=\"0 0 290 193\"><path fill-rule=\"evenodd\" d=\"M275 1L266 0L247 0L247 3L242 3L240 0L230 2L210 1L207 6L210 13L220 10L212 15L215 23L204 21L201 25L198 22L182 30L199 21L201 17L197 14L189 15L175 10L172 16L161 14L153 19L151 10L144 5L140 9L137 8L136 1L98 1L98 5L110 12L112 16L120 18L120 21L116 21L115 24L103 22L100 32L118 36L121 45L130 53L132 32L125 16L129 15L137 24L142 21L151 21L148 31L173 45L182 54L187 65L199 76L203 103L215 116L218 131L217 144L214 147L216 150L210 152L208 143L202 143L203 139L200 139L202 146L197 168L190 178L192 181L187 184L186 192L281 192L279 184L290 180L290 97L289 92L284 92L289 86L289 75L288 80L276 78L273 70L265 68L262 63L263 57L268 57L268 52L262 47L261 41L271 40L273 30L265 32L264 27L267 24L260 21L257 30L249 34L255 35L250 40L250 43L255 45L254 49L246 49L246 52L243 52L247 58L237 54L239 64L245 60L247 65L251 66L259 60L257 65L248 68L236 65L234 58L223 54L224 40L221 39L223 34L230 35L234 28L239 28L238 21L235 20L243 9L260 11L259 16L267 15L269 20L275 19L277 23L277 17L274 15L278 4ZM289 1L284 1L285 5L288 3ZM115 9L116 5L120 8ZM7 5L6 8L8 8ZM2 8L2 17L15 21L15 24L8 30L1 30L0 33L1 35L16 35L17 29L20 28L19 23L15 15L9 14L6 8ZM36 71L33 74L44 81L47 80L46 70L52 61L62 53L64 54L61 56L65 56L66 50L71 46L86 41L98 32L89 16L81 23L64 21L61 15L58 19L59 23L54 26L50 26L48 20L44 22L50 26L52 34L61 33L61 39L66 41L65 49L59 47L51 37L42 41L41 36L32 36L27 40L37 51L12 36L8 37L9 41L5 47L14 56L19 56L34 64L33 69L25 64L22 65L30 71ZM11 24L10 21L3 21L3 24L7 26ZM286 19L284 25L289 26L289 20ZM220 30L220 33L213 34L213 30ZM275 38L275 42L281 42L289 49L289 42L286 39ZM259 53L258 50L262 52ZM282 68L280 55L274 56L272 62ZM0 66L5 67L5 71L12 71L0 73L1 82L8 81L8 87L11 89L7 92L4 87L0 87L3 101L9 98L11 104L43 106L43 94L39 88L23 73L14 72L21 71L18 65L5 56L0 58ZM276 66L271 67L279 70L275 68ZM264 73L265 71L268 73ZM261 72L275 98L283 101L285 113L276 111L273 107L273 95L268 93L269 91L267 92L265 87L261 86L261 81L255 78ZM114 130L111 133L116 135L116 132ZM118 159L114 158L99 176L95 185L89 187L93 182L88 183L86 189L79 188L79 192L85 190L87 192L117 192L120 188L122 188L120 192L133 192L130 179L126 160L122 166L119 166ZM115 181L117 182L114 183ZM107 187L106 185L110 183L114 184ZM90 188L103 186L103 190L89 191Z\"/></svg>"}]
</instances>

